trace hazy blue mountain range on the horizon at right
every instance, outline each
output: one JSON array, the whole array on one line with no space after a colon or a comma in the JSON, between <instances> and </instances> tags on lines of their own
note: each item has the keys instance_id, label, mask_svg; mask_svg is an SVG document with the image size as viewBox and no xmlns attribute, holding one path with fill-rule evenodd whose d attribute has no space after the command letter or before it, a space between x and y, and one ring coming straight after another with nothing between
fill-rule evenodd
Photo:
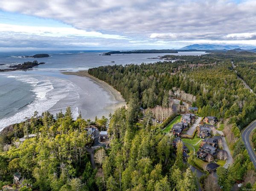
<instances>
[{"instance_id":1,"label":"hazy blue mountain range on the horizon at right","mask_svg":"<svg viewBox=\"0 0 256 191\"><path fill-rule=\"evenodd\" d=\"M236 46L236 45L215 45L215 44L193 44L189 46L185 46L183 48L180 48L180 50L232 50L236 49L236 51L244 51L244 50L250 50L256 47L252 46ZM239 50L240 49L240 50Z\"/></svg>"}]
</instances>

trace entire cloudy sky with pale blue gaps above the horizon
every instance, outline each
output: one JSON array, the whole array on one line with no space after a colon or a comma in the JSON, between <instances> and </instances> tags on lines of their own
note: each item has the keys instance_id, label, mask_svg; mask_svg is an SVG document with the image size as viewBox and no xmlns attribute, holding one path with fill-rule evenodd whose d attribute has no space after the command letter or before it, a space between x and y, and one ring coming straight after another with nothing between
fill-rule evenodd
<instances>
[{"instance_id":1,"label":"entire cloudy sky with pale blue gaps above the horizon","mask_svg":"<svg viewBox=\"0 0 256 191\"><path fill-rule=\"evenodd\" d=\"M256 46L256 0L0 0L3 49Z\"/></svg>"}]
</instances>

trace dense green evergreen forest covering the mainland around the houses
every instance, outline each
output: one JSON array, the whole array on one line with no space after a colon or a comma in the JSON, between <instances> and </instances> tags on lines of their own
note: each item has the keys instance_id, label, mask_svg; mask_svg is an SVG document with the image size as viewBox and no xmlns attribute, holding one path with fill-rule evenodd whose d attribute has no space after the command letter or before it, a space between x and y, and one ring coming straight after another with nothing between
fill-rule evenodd
<instances>
[{"instance_id":1,"label":"dense green evergreen forest covering the mainland around the houses","mask_svg":"<svg viewBox=\"0 0 256 191\"><path fill-rule=\"evenodd\" d=\"M255 168L241 138L241 130L256 119L256 95L241 81L255 89L250 75L255 73L256 56L164 57L176 61L89 69L89 74L116 88L128 102L109 119L84 120L81 114L73 119L68 107L56 116L35 112L31 119L1 133L1 183L10 185L18 173L24 190L197 191L200 187L230 191L240 182L242 188L256 189ZM218 119L216 128L224 132L233 157L228 166L215 158L213 163L219 167L214 174L207 169L209 162L198 159L193 148L203 140L197 137L197 129L192 137L181 137L184 144L175 142L172 132L166 131L181 117L172 111L173 99L179 100L180 114L187 112L186 102L197 108L189 112L198 117ZM103 136L95 136L97 131ZM106 143L99 143L101 139ZM194 145L186 144L189 141Z\"/></svg>"}]
</instances>

